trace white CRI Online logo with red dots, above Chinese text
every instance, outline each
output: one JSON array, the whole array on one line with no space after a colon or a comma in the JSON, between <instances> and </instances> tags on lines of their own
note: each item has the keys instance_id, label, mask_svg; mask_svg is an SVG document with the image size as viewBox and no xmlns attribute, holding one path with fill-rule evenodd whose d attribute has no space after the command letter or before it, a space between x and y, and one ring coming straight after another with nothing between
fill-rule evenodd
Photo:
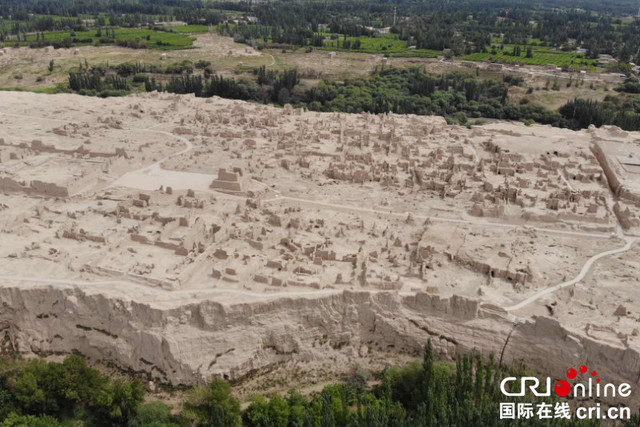
<instances>
[{"instance_id":1,"label":"white CRI Online logo with red dots, above Chinese text","mask_svg":"<svg viewBox=\"0 0 640 427\"><path fill-rule=\"evenodd\" d=\"M580 373L587 374L587 367L585 365L580 366ZM615 384L607 383L604 386L600 384L600 378L597 378L598 373L591 371L588 374L587 384L576 383L571 387L569 381L560 380L555 383L553 391L560 397L567 397L572 394L572 397L629 397L631 395L631 385L622 383L616 387ZM567 369L567 378L570 380L575 379L578 376L578 372L573 369ZM594 385L595 379L595 385ZM507 377L500 383L500 390L505 396L524 396L526 389L528 388L534 396L551 396L551 378L547 377L546 388L540 390L540 380L536 377L522 377L520 378L520 391L509 392L506 389L507 384L517 381L516 377ZM572 393L573 392L573 393Z\"/></svg>"}]
</instances>

